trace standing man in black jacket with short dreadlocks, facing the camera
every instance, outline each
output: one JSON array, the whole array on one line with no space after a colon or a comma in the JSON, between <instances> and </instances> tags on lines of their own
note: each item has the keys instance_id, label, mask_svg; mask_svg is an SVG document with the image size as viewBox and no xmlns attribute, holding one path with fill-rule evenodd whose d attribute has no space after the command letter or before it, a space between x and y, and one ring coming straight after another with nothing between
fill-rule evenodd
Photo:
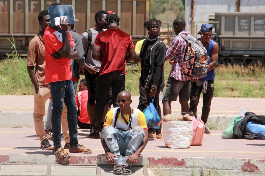
<instances>
[{"instance_id":1,"label":"standing man in black jacket with short dreadlocks, facing the camera","mask_svg":"<svg viewBox=\"0 0 265 176\"><path fill-rule=\"evenodd\" d=\"M143 42L140 52L142 59L141 84L145 89L147 96L147 105L152 102L154 97L154 107L161 118L161 108L159 106L159 93L164 87L164 63L166 55L166 46L159 38L160 26L162 22L157 19L150 19L143 23L143 26L149 32L149 38ZM160 129L148 129L148 139L163 139Z\"/></svg>"}]
</instances>

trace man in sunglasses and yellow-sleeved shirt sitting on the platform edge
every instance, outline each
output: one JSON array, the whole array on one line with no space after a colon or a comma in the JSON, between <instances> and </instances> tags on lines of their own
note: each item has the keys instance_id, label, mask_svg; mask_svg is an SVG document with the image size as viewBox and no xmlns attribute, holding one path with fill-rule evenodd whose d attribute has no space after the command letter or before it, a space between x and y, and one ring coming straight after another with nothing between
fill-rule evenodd
<instances>
[{"instance_id":1,"label":"man in sunglasses and yellow-sleeved shirt sitting on the platform edge","mask_svg":"<svg viewBox=\"0 0 265 176\"><path fill-rule=\"evenodd\" d=\"M115 163L114 157L128 157L126 165L115 165L113 174L130 175L130 165L137 162L148 142L148 128L143 112L130 107L130 92L121 91L117 98L119 107L111 109L104 119L101 143L109 164Z\"/></svg>"}]
</instances>

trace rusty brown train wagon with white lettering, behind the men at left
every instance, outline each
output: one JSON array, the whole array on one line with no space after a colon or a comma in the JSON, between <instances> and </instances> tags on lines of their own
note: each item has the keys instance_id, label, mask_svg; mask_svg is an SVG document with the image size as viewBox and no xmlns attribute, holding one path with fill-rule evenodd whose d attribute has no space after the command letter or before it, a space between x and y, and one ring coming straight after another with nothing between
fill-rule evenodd
<instances>
[{"instance_id":1,"label":"rusty brown train wagon with white lettering, behind the men at left","mask_svg":"<svg viewBox=\"0 0 265 176\"><path fill-rule=\"evenodd\" d=\"M0 0L0 55L11 53L14 41L19 54L26 54L29 41L38 33L38 14L53 2L73 5L75 30L79 34L95 25L98 10L113 11L121 18L120 29L130 34L134 41L147 35L142 27L150 16L150 0Z\"/></svg>"}]
</instances>

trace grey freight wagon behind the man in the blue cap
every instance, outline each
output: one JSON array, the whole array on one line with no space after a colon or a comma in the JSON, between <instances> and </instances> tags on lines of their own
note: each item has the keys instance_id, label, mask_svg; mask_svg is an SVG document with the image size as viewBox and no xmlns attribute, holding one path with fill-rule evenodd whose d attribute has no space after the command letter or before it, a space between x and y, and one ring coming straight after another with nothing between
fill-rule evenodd
<instances>
[{"instance_id":1,"label":"grey freight wagon behind the man in the blue cap","mask_svg":"<svg viewBox=\"0 0 265 176\"><path fill-rule=\"evenodd\" d=\"M265 65L265 13L215 13L215 21L219 63Z\"/></svg>"}]
</instances>

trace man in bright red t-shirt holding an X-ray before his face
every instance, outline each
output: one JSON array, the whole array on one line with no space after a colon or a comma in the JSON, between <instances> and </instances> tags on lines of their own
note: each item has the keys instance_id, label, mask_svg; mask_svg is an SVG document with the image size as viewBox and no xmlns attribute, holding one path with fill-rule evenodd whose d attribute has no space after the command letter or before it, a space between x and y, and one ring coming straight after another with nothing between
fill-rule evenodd
<instances>
[{"instance_id":1,"label":"man in bright red t-shirt holding an X-ray before his face","mask_svg":"<svg viewBox=\"0 0 265 176\"><path fill-rule=\"evenodd\" d=\"M90 149L78 144L77 140L77 105L70 68L70 50L75 47L72 35L68 31L68 20L60 18L61 26L48 26L44 32L45 43L45 82L50 84L52 97L51 126L53 129L52 154L69 159L68 152L61 147L61 115L63 103L67 107L71 153L92 153ZM75 48L76 50L76 48Z\"/></svg>"}]
</instances>

